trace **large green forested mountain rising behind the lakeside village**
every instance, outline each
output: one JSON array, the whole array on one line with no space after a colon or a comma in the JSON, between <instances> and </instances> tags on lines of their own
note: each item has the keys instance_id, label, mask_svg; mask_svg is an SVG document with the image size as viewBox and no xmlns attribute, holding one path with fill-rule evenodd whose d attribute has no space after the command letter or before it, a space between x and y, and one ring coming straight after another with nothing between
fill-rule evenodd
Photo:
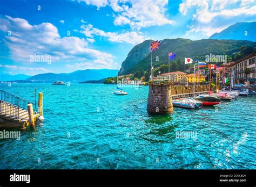
<instances>
[{"instance_id":1,"label":"large green forested mountain rising behind the lakeside village","mask_svg":"<svg viewBox=\"0 0 256 187\"><path fill-rule=\"evenodd\" d=\"M256 48L256 42L246 40L203 39L193 41L190 39L177 38L164 39L160 42L159 49L152 52L154 68L160 66L160 64L168 64L168 52L176 53L176 60L180 57L181 60L184 61L184 57L191 57L193 60L205 61L206 55L232 55L234 52L239 52L241 46ZM140 44L138 46L140 46ZM140 49L140 51L146 51L149 46L150 45L144 46L145 49ZM132 56L136 56L137 54L132 53L131 51L129 55L129 58L132 59ZM134 60L132 66L131 64L127 64L126 60L122 63L122 71L120 71L120 75L136 73L138 70L148 70L151 68L150 54L146 55L142 60Z\"/></svg>"}]
</instances>

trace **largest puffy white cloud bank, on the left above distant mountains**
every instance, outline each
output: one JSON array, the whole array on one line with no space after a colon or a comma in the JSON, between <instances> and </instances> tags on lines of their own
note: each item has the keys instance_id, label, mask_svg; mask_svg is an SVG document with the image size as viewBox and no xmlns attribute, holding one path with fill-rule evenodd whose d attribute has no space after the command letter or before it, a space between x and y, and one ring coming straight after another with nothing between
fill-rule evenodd
<instances>
[{"instance_id":1,"label":"largest puffy white cloud bank, on the left above distant mountains","mask_svg":"<svg viewBox=\"0 0 256 187\"><path fill-rule=\"evenodd\" d=\"M110 66L113 62L111 54L89 48L85 39L61 38L56 26L50 23L30 25L25 19L5 16L0 18L1 30L11 31L11 35L3 40L10 50L11 59L17 62L29 62L30 55L35 53L51 55L52 62L93 62L103 57Z\"/></svg>"}]
</instances>

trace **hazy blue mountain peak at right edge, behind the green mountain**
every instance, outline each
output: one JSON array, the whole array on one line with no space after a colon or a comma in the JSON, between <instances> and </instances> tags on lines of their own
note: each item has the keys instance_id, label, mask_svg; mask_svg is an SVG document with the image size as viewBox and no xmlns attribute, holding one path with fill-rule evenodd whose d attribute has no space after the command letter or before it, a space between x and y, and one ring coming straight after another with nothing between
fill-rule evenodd
<instances>
[{"instance_id":1,"label":"hazy blue mountain peak at right edge, behind the green mountain","mask_svg":"<svg viewBox=\"0 0 256 187\"><path fill-rule=\"evenodd\" d=\"M256 22L240 22L231 25L221 31L214 33L210 39L231 39L231 40L250 40L256 41Z\"/></svg>"}]
</instances>

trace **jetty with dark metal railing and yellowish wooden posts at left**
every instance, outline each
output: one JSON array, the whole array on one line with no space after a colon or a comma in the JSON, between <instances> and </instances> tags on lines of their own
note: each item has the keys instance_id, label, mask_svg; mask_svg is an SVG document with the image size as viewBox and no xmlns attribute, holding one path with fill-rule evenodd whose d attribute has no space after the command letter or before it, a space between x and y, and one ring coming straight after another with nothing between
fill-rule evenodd
<instances>
[{"instance_id":1,"label":"jetty with dark metal railing and yellowish wooden posts at left","mask_svg":"<svg viewBox=\"0 0 256 187\"><path fill-rule=\"evenodd\" d=\"M0 128L35 128L39 116L43 116L43 93L39 93L38 109L39 113L29 100L0 90Z\"/></svg>"}]
</instances>

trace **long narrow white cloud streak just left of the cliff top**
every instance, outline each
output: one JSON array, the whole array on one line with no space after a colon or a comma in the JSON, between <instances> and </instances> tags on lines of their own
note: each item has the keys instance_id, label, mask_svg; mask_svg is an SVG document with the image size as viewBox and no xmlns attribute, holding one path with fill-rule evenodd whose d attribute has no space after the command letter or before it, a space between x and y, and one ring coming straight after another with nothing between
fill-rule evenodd
<instances>
[{"instance_id":1,"label":"long narrow white cloud streak just left of the cliff top","mask_svg":"<svg viewBox=\"0 0 256 187\"><path fill-rule=\"evenodd\" d=\"M144 36L142 32L135 32L135 31L125 32L125 33L105 32L103 30L99 30L98 28L93 27L92 24L82 25L81 28L82 28L82 31L80 31L80 33L83 33L86 37L89 37L92 39L95 35L98 35L100 37L107 38L109 41L126 42L133 45L139 44L144 40L149 39L146 36ZM89 39L87 38L87 40Z\"/></svg>"}]
</instances>

